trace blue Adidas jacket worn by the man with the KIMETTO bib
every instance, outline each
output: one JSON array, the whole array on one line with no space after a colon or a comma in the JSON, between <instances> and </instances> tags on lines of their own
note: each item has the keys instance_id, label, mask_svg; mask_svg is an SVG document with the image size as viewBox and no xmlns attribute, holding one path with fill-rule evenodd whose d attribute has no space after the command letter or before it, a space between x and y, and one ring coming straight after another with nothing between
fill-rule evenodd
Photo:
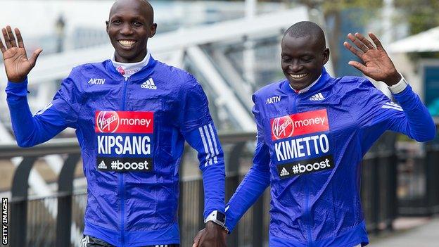
<instances>
[{"instance_id":1,"label":"blue Adidas jacket worn by the man with the KIMETTO bib","mask_svg":"<svg viewBox=\"0 0 439 247\"><path fill-rule=\"evenodd\" d=\"M362 77L322 77L303 94L287 80L253 95L253 166L226 206L227 227L271 184L269 246L367 245L360 202L361 161L386 130L417 141L435 135L412 88L393 103Z\"/></svg>"}]
</instances>

